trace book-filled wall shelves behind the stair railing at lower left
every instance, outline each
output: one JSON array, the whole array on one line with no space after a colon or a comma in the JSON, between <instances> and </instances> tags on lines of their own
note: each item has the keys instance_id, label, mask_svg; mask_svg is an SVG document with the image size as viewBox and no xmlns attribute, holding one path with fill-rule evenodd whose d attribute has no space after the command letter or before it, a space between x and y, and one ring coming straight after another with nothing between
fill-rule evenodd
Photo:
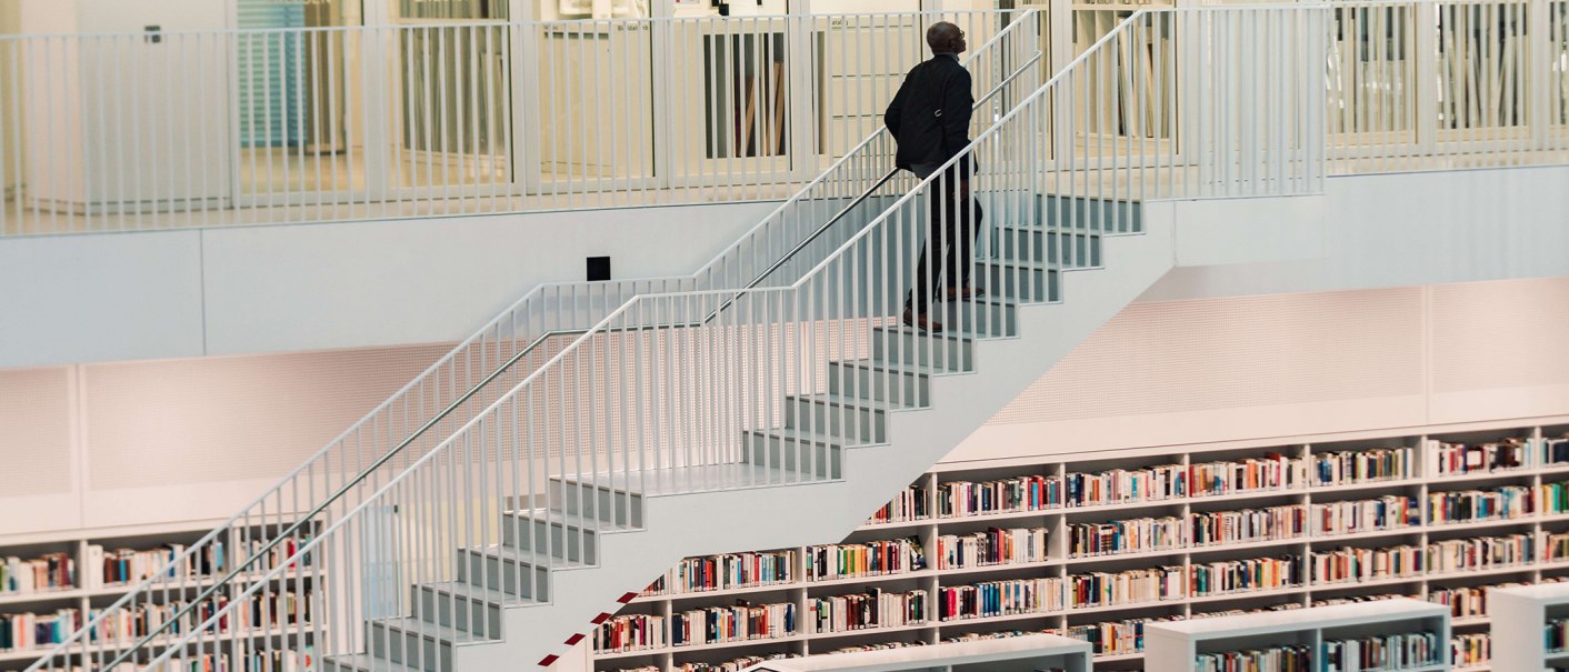
<instances>
[{"instance_id":1,"label":"book-filled wall shelves behind the stair railing at lower left","mask_svg":"<svg viewBox=\"0 0 1569 672\"><path fill-rule=\"evenodd\" d=\"M206 537L217 523L33 535L0 545L0 670L19 670L42 658L71 630L86 623L96 611L113 604L188 545ZM160 584L168 590L160 587L157 606L173 614L185 600L198 597L237 567L237 562L243 562L249 550L262 548L270 539L268 531L270 526L231 528L223 543L212 546L213 553L193 557L180 573ZM238 593L262 581L276 567L273 562L278 553L284 551L259 561L257 570L240 575L237 587L231 590ZM320 567L308 564L279 573L270 579L271 590L254 595L264 601L268 619L275 623L257 626L249 636L257 653L308 652L312 637L322 636L322 626L309 619L315 609L309 603L312 590L308 587L323 581L323 576ZM295 595L306 595L306 600L297 601ZM111 655L140 639L141 633L133 625L116 623L104 628L104 634L94 637L85 652Z\"/></svg>"}]
</instances>

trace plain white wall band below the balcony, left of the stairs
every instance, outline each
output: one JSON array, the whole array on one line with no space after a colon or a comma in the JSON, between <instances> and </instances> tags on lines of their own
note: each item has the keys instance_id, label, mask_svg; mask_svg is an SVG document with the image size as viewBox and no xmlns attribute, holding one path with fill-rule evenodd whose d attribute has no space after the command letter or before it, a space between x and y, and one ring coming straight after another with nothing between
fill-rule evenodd
<instances>
[{"instance_id":1,"label":"plain white wall band below the balcony, left of the stairs","mask_svg":"<svg viewBox=\"0 0 1569 672\"><path fill-rule=\"evenodd\" d=\"M774 207L0 239L0 369L461 341L588 256L689 275Z\"/></svg>"}]
</instances>

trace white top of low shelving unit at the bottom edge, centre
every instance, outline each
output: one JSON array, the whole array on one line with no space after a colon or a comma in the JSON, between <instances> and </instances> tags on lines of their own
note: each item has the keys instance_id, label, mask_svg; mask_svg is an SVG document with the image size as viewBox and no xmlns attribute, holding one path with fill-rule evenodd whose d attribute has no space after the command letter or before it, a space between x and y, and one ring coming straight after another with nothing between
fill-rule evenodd
<instances>
[{"instance_id":1,"label":"white top of low shelving unit at the bottom edge, centre","mask_svg":"<svg viewBox=\"0 0 1569 672\"><path fill-rule=\"evenodd\" d=\"M1089 644L1056 634L786 658L770 672L1090 672Z\"/></svg>"}]
</instances>

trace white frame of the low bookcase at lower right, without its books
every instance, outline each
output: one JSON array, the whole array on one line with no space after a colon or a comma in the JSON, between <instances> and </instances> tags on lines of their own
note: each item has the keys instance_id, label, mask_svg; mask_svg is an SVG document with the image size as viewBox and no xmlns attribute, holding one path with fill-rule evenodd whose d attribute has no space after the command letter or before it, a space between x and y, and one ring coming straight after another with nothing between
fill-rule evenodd
<instances>
[{"instance_id":1,"label":"white frame of the low bookcase at lower right, without its books","mask_svg":"<svg viewBox=\"0 0 1569 672\"><path fill-rule=\"evenodd\" d=\"M1448 670L1450 612L1422 600L1381 600L1357 604L1318 606L1271 614L1197 619L1180 623L1152 623L1144 631L1147 672L1189 672L1202 653L1305 647L1312 669L1326 670L1323 644L1335 639L1431 633L1440 661L1406 666L1385 672Z\"/></svg>"}]
</instances>

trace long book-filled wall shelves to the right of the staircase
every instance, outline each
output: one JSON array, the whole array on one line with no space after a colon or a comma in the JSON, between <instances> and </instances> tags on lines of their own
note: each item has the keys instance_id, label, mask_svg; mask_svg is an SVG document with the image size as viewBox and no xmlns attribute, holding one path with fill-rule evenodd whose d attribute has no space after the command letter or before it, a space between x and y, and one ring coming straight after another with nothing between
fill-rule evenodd
<instances>
[{"instance_id":1,"label":"long book-filled wall shelves to the right of the staircase","mask_svg":"<svg viewBox=\"0 0 1569 672\"><path fill-rule=\"evenodd\" d=\"M706 567L687 568L684 575L678 567L634 598L596 637L588 637L587 664L596 672L739 670L770 658L1047 631L1090 641L1097 670L1136 670L1144 669L1141 641L1147 622L1411 597L1450 608L1451 645L1461 650L1456 669L1484 672L1491 669L1486 589L1569 578L1569 499L1564 499L1569 491L1558 487L1569 482L1569 440L1563 438L1569 424L1432 425L1407 432L1412 433L1294 436L1299 443L1238 441L938 465L839 543L865 546L865 553L850 553L841 565L866 572L850 576L819 572L819 546L761 551L770 556L766 561L744 553L689 559L683 565L706 562ZM1461 446L1458 462L1454 446ZM1508 455L1489 458L1472 451L1486 451L1484 446L1503 446ZM1374 468L1359 477L1340 469L1327 484L1316 476L1315 465L1329 455L1378 451L1400 451L1404 457L1384 460L1396 466L1389 473ZM1456 469L1467 465L1467 454L1473 458L1470 466ZM1170 465L1170 474L1191 476L1214 471L1210 466L1216 463L1252 463L1252 471L1236 471L1235 482L1257 487L1211 482L1159 498L1101 496L1070 506L1070 499L1087 491L1084 479L1073 474L1122 474L1117 477L1122 487L1136 480L1130 473ZM1260 463L1283 469L1283 477L1260 476ZM1070 480L1079 484L1070 488ZM1528 493L1530 501L1522 502L1520 493ZM1221 532L1207 532L1222 534L1216 543L1199 543L1194 534L1194 520L1247 515L1274 521L1290 518L1291 510L1310 517L1381 498L1398 499L1407 510L1395 517L1385 507L1387 524L1378 528L1326 532L1316 520L1305 520L1299 529L1266 523L1257 528L1265 534L1252 535L1227 532L1235 528L1222 524L1216 528ZM1164 531L1155 523L1112 528L1122 534L1109 537L1122 543L1098 543L1100 526L1163 518ZM1172 520L1186 523L1175 524L1180 534L1170 534ZM1034 531L1043 532L1040 548ZM1092 531L1097 543L1089 543ZM977 534L1007 537L1017 562L987 562L996 556L948 562L946 551L956 539ZM1083 553L1075 553L1075 543ZM905 546L918 550L924 562L915 562ZM1381 553L1398 546L1407 546L1403 561ZM1431 568L1429 546L1443 556ZM835 557L839 551L833 550ZM877 561L868 565L866 557ZM1338 561L1334 573L1315 567L1315 561L1326 557ZM886 564L877 564L883 559ZM1393 568L1390 562L1396 562ZM1120 586L1100 581L1086 595L1083 584L1097 573L1147 576ZM943 611L948 595L968 593L971 587L979 592L981 584L999 584L988 590L1004 593L1001 609L993 593L992 609ZM1133 592L1142 600L1131 600ZM899 609L893 619L897 625L847 631L816 626L813 606L821 606L819 600L863 593L874 593L879 606L890 606L883 598L891 597L891 606ZM923 597L915 604L918 612L905 609L912 593ZM788 604L792 615L788 626L778 619L753 619L736 641L672 644L683 614L717 612L715 622L733 623L766 604L775 606L774 614L777 606Z\"/></svg>"}]
</instances>

